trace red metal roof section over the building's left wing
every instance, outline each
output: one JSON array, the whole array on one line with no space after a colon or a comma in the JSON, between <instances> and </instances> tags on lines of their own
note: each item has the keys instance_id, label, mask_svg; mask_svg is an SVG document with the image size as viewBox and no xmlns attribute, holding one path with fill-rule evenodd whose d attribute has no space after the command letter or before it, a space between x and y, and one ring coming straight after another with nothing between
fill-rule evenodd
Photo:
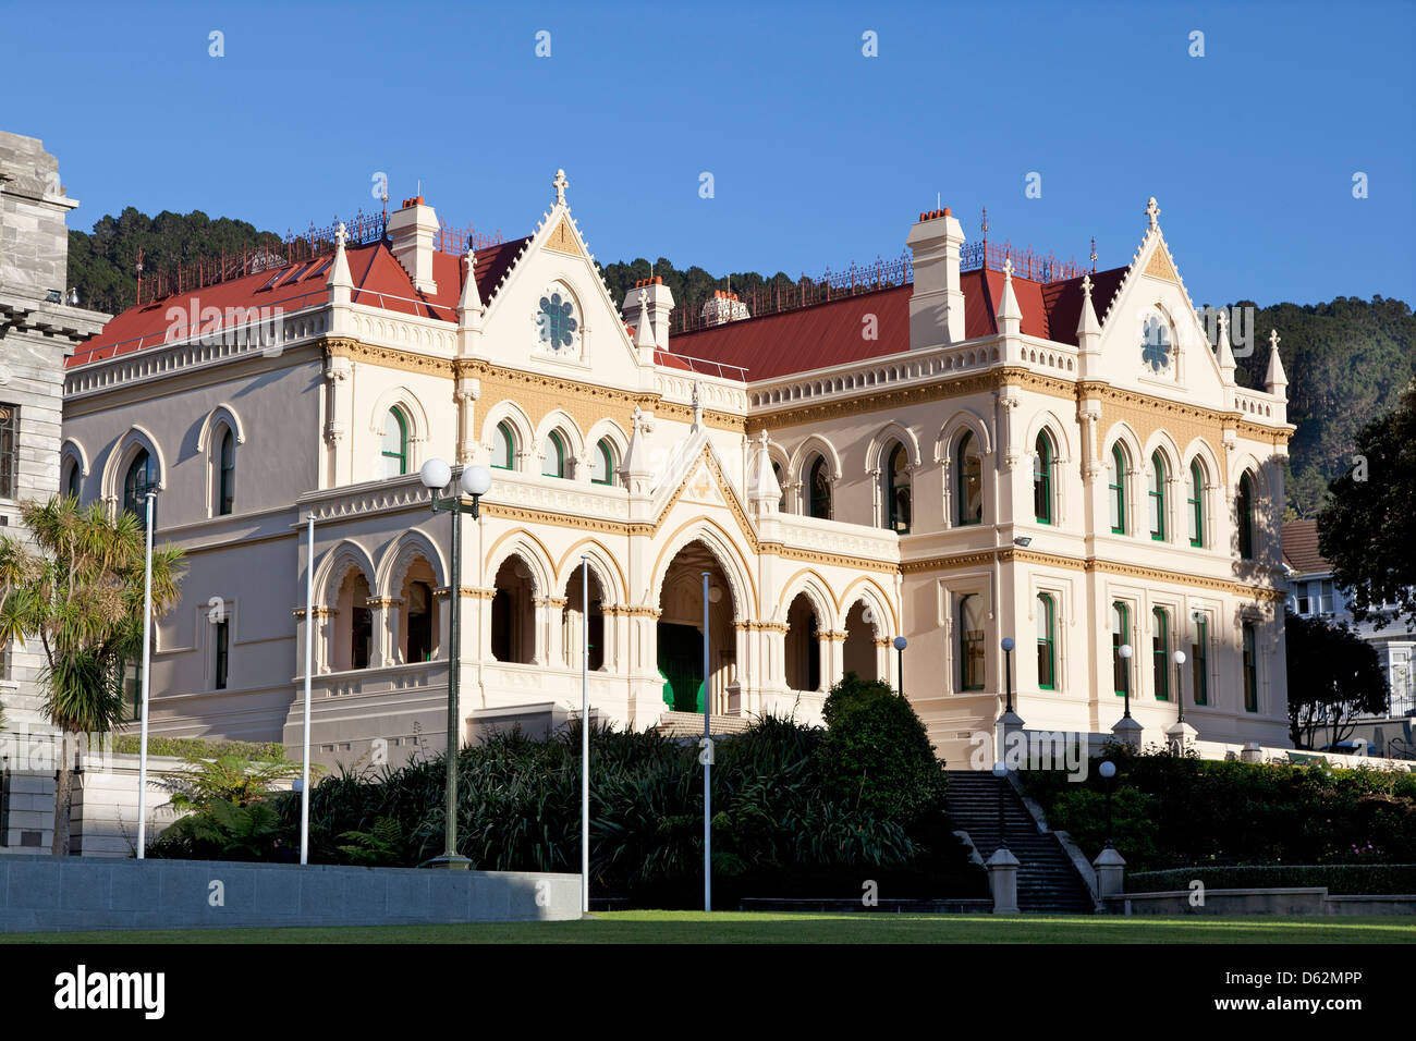
<instances>
[{"instance_id":1,"label":"red metal roof section over the building's left wing","mask_svg":"<svg viewBox=\"0 0 1416 1041\"><path fill-rule=\"evenodd\" d=\"M513 261L530 237L483 249L473 265L477 292L483 303L491 300L497 283L511 269ZM346 251L350 278L354 282L354 303L401 314L421 314L443 322L457 320L457 300L462 296L463 263L460 256L433 252L433 280L436 293L421 293L404 271L387 242L350 246ZM246 275L245 278L194 289L187 293L156 300L142 307L129 307L103 326L103 331L82 344L67 365L84 365L102 361L116 354L154 347L169 340L187 336L187 327L195 320L195 327L215 334L219 319L202 317L207 309L217 309L225 316L227 309L270 309L279 307L289 313L302 307L326 303L330 292L324 282L330 276L333 256L287 265L272 271ZM181 317L169 312L176 309Z\"/></svg>"}]
</instances>

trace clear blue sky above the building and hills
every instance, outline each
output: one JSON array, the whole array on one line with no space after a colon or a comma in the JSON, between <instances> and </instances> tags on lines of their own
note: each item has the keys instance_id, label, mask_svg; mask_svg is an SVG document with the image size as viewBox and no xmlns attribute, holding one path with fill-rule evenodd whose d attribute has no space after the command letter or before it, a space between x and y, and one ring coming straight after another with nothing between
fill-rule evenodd
<instances>
[{"instance_id":1,"label":"clear blue sky above the building and hills","mask_svg":"<svg viewBox=\"0 0 1416 1041\"><path fill-rule=\"evenodd\" d=\"M0 25L0 129L44 139L85 229L126 205L300 229L377 208L387 171L395 205L421 180L510 238L565 167L605 263L820 273L898 255L939 193L970 238L987 205L991 239L1082 259L1095 234L1114 266L1155 195L1197 305L1416 300L1409 0L31 0Z\"/></svg>"}]
</instances>

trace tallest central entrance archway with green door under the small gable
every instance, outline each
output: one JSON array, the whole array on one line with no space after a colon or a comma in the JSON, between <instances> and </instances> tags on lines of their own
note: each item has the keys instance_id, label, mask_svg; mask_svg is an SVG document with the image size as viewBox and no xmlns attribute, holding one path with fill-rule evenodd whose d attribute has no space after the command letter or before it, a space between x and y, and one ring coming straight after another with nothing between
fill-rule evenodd
<instances>
[{"instance_id":1,"label":"tallest central entrance archway with green door under the small gable","mask_svg":"<svg viewBox=\"0 0 1416 1041\"><path fill-rule=\"evenodd\" d=\"M708 572L708 691L714 712L728 707L736 678L738 633L732 588L712 551L690 542L674 557L658 593L658 671L664 704L681 712L704 711L702 572Z\"/></svg>"}]
</instances>

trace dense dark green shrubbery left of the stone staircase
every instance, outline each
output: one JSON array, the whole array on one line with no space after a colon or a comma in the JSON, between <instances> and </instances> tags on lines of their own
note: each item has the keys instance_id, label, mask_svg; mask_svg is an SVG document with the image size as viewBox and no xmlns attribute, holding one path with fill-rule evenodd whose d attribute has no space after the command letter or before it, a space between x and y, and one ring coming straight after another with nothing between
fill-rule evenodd
<instances>
[{"instance_id":1,"label":"dense dark green shrubbery left of the stone staircase","mask_svg":"<svg viewBox=\"0 0 1416 1041\"><path fill-rule=\"evenodd\" d=\"M721 738L714 779L714 894L848 897L875 881L881 897L983 897L943 813L878 813L834 793L818 755L826 732L762 719ZM483 870L579 871L581 738L518 732L464 748L457 758L457 851ZM596 897L649 906L702 899L702 768L694 741L595 729L590 741L590 872ZM442 758L377 775L341 775L310 796L312 863L418 865L443 850ZM287 858L297 847L300 802L272 796L276 824L252 836L239 821L241 855ZM263 841L263 846L261 844ZM221 853L193 833L164 833L150 855ZM228 853L228 855L231 855Z\"/></svg>"}]
</instances>

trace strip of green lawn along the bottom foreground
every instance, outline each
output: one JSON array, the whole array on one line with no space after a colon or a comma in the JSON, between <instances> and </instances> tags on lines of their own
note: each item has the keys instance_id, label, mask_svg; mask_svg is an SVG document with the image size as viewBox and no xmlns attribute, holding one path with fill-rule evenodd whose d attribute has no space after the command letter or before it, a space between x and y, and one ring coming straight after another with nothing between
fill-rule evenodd
<instances>
[{"instance_id":1,"label":"strip of green lawn along the bottom foreground","mask_svg":"<svg viewBox=\"0 0 1416 1041\"><path fill-rule=\"evenodd\" d=\"M578 922L0 935L0 943L1416 943L1396 918L616 911Z\"/></svg>"}]
</instances>

